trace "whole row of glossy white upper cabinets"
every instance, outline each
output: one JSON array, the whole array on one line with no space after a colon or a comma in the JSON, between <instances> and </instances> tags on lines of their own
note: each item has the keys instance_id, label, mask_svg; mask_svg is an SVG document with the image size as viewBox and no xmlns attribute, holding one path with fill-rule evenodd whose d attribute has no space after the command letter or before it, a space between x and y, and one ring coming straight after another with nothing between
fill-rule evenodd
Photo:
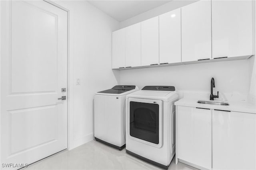
<instances>
[{"instance_id":1,"label":"whole row of glossy white upper cabinets","mask_svg":"<svg viewBox=\"0 0 256 170\"><path fill-rule=\"evenodd\" d=\"M114 31L112 68L247 59L254 55L253 13L253 0L200 0Z\"/></svg>"}]
</instances>

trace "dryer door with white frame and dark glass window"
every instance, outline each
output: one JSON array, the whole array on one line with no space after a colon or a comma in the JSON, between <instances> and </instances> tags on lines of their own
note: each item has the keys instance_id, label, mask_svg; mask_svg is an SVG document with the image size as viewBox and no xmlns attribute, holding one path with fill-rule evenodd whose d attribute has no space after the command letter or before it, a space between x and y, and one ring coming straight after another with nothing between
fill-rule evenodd
<instances>
[{"instance_id":1,"label":"dryer door with white frame and dark glass window","mask_svg":"<svg viewBox=\"0 0 256 170\"><path fill-rule=\"evenodd\" d=\"M128 99L128 134L133 140L162 147L162 101Z\"/></svg>"}]
</instances>

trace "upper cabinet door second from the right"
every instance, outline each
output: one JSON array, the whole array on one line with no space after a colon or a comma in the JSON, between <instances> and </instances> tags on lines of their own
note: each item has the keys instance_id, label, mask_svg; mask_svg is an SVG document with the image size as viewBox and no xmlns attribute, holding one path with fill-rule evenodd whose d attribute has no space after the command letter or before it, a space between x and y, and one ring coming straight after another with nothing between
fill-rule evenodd
<instances>
[{"instance_id":1,"label":"upper cabinet door second from the right","mask_svg":"<svg viewBox=\"0 0 256 170\"><path fill-rule=\"evenodd\" d=\"M182 62L212 58L211 1L181 8Z\"/></svg>"}]
</instances>

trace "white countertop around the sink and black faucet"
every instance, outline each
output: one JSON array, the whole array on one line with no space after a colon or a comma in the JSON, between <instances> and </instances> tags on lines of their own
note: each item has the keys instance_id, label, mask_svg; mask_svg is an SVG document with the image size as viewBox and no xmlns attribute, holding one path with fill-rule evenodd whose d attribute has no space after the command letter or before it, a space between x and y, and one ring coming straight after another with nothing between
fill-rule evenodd
<instances>
[{"instance_id":1,"label":"white countertop around the sink and black faucet","mask_svg":"<svg viewBox=\"0 0 256 170\"><path fill-rule=\"evenodd\" d=\"M219 110L238 111L238 112L256 114L255 104L249 103L246 101L222 101L222 102L228 102L229 106L221 106L221 105L213 105L213 104L199 104L197 103L198 100L202 100L202 99L182 98L177 102L175 102L174 104L176 106L200 107L200 108L206 108L206 109L219 109ZM206 100L206 101L209 101L209 100Z\"/></svg>"}]
</instances>

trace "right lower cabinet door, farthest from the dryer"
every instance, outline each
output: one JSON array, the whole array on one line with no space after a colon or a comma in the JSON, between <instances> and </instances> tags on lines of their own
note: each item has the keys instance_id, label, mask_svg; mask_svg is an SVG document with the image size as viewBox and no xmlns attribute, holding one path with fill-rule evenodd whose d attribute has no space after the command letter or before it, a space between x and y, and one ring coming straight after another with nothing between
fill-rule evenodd
<instances>
[{"instance_id":1,"label":"right lower cabinet door, farthest from the dryer","mask_svg":"<svg viewBox=\"0 0 256 170\"><path fill-rule=\"evenodd\" d=\"M256 114L212 111L212 168L256 169Z\"/></svg>"}]
</instances>

